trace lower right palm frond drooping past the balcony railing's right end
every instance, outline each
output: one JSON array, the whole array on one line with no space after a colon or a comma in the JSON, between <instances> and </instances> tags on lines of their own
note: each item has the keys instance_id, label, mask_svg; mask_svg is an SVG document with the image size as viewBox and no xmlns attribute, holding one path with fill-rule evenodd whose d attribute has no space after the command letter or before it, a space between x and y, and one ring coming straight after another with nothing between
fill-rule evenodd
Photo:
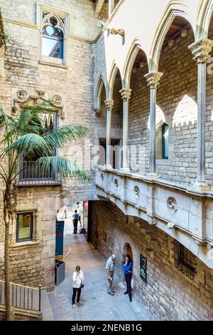
<instances>
[{"instance_id":1,"label":"lower right palm frond drooping past the balcony railing's right end","mask_svg":"<svg viewBox=\"0 0 213 335\"><path fill-rule=\"evenodd\" d=\"M76 177L80 182L89 182L91 177L80 166L72 162L69 158L60 156L41 157L35 161L35 165L48 173L53 172L60 175L62 180L65 178Z\"/></svg>"}]
</instances>

